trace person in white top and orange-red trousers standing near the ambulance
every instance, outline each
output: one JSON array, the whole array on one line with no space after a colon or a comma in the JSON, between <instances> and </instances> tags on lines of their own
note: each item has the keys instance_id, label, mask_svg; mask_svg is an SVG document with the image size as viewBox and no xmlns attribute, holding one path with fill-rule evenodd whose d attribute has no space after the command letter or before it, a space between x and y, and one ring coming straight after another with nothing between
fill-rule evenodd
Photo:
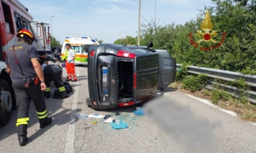
<instances>
[{"instance_id":1,"label":"person in white top and orange-red trousers standing near the ambulance","mask_svg":"<svg viewBox=\"0 0 256 153\"><path fill-rule=\"evenodd\" d=\"M74 65L76 55L74 50L71 49L70 44L65 44L65 47L68 50L68 61L66 62L66 73L68 74L68 79L66 81L77 81Z\"/></svg>"}]
</instances>

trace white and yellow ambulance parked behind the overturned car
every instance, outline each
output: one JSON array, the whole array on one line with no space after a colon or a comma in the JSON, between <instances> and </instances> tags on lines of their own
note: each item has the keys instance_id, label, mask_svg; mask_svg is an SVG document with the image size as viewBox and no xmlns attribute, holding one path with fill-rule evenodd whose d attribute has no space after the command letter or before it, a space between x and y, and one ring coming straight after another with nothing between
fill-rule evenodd
<instances>
[{"instance_id":1,"label":"white and yellow ambulance parked behind the overturned car","mask_svg":"<svg viewBox=\"0 0 256 153\"><path fill-rule=\"evenodd\" d=\"M71 48L76 53L76 58L74 60L75 64L87 65L88 49L93 45L98 45L99 42L87 36L84 36L82 38L66 37L62 45L62 62L65 62L68 58L68 55L66 54L67 50L65 44L70 44Z\"/></svg>"}]
</instances>

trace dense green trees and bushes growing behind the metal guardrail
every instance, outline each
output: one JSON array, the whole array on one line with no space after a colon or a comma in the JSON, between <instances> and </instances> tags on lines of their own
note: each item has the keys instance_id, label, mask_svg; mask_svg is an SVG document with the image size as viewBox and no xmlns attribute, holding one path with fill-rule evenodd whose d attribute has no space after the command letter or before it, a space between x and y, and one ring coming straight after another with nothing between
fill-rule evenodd
<instances>
[{"instance_id":1,"label":"dense green trees and bushes growing behind the metal guardrail","mask_svg":"<svg viewBox=\"0 0 256 153\"><path fill-rule=\"evenodd\" d=\"M215 6L199 12L196 20L184 25L158 25L151 20L142 23L141 46L154 43L154 49L167 49L180 64L210 67L242 72L256 67L256 1L212 0ZM210 12L215 41L201 41L197 30L202 29L206 10ZM211 32L212 32L211 31ZM188 35L189 33L193 33ZM201 32L202 33L202 32ZM201 35L200 35L201 36ZM198 42L198 46L191 45ZM222 41L223 40L223 41ZM221 42L221 45L218 43ZM118 39L116 44L129 44L128 38ZM218 45L218 47L216 47ZM204 47L208 47L205 49ZM210 50L208 50L210 49Z\"/></svg>"}]
</instances>

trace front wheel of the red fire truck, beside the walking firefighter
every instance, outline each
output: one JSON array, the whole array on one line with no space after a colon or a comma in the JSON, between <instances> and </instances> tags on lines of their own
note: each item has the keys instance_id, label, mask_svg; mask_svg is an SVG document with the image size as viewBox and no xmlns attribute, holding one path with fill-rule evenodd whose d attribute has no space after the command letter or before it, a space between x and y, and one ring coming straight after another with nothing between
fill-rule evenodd
<instances>
[{"instance_id":1,"label":"front wheel of the red fire truck, beside the walking firefighter","mask_svg":"<svg viewBox=\"0 0 256 153\"><path fill-rule=\"evenodd\" d=\"M12 111L12 95L7 81L0 79L0 126L5 125L10 120Z\"/></svg>"}]
</instances>

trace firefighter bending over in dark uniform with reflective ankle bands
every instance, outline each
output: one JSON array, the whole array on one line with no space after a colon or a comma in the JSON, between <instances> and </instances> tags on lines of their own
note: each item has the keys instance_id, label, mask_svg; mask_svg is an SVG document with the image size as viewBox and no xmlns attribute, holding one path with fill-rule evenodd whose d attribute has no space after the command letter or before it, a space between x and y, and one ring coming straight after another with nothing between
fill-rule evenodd
<instances>
[{"instance_id":1,"label":"firefighter bending over in dark uniform with reflective ankle bands","mask_svg":"<svg viewBox=\"0 0 256 153\"><path fill-rule=\"evenodd\" d=\"M44 90L45 98L51 97L51 83L54 81L54 85L57 87L60 97L54 95L52 98L68 98L68 94L66 94L66 89L64 83L62 81L62 67L59 65L42 65L43 73L44 73L44 81L46 83L46 90Z\"/></svg>"}]
</instances>

